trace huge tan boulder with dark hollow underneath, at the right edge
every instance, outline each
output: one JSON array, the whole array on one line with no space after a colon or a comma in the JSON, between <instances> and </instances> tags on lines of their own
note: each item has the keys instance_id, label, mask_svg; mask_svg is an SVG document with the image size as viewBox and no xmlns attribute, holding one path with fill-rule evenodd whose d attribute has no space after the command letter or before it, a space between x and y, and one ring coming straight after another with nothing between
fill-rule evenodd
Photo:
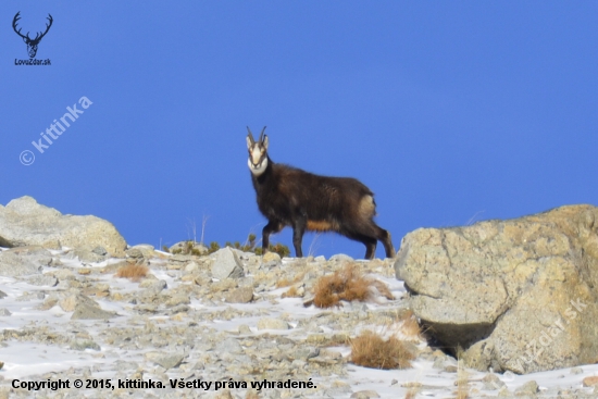
<instances>
[{"instance_id":1,"label":"huge tan boulder with dark hollow underneath, at the right edge","mask_svg":"<svg viewBox=\"0 0 598 399\"><path fill-rule=\"evenodd\" d=\"M413 312L478 370L531 373L598 360L598 208L420 228L395 270Z\"/></svg>"}]
</instances>

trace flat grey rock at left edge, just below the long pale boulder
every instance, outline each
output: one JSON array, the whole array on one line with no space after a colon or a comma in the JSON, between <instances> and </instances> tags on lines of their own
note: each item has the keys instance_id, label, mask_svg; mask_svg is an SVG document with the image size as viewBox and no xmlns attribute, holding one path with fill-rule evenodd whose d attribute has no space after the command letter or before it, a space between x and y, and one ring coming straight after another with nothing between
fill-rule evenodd
<instances>
[{"instance_id":1,"label":"flat grey rock at left edge, just below the long pale boulder","mask_svg":"<svg viewBox=\"0 0 598 399\"><path fill-rule=\"evenodd\" d=\"M17 277L41 273L52 263L49 251L39 246L13 248L0 252L0 276Z\"/></svg>"}]
</instances>

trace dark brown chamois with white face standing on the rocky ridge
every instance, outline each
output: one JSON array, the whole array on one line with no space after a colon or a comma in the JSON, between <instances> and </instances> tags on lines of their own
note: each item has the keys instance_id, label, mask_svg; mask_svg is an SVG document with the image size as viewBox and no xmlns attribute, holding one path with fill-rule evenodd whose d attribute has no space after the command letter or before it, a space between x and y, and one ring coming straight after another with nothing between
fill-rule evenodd
<instances>
[{"instance_id":1,"label":"dark brown chamois with white face standing on the rocky ridge","mask_svg":"<svg viewBox=\"0 0 598 399\"><path fill-rule=\"evenodd\" d=\"M390 234L374 223L374 194L351 177L327 177L272 162L267 154L267 136L262 129L256 141L247 127L248 165L258 208L267 219L262 230L262 249L269 249L270 235L285 226L292 227L292 245L301 258L306 230L336 232L365 245L365 259L373 259L377 240L387 258L395 257Z\"/></svg>"}]
</instances>

